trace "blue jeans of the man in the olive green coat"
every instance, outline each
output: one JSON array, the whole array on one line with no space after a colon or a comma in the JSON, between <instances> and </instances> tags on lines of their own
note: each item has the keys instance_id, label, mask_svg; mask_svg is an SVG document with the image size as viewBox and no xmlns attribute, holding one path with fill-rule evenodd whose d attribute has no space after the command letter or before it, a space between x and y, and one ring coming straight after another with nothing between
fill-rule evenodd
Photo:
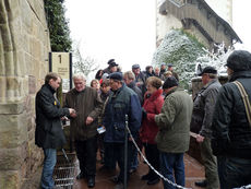
<instances>
[{"instance_id":1,"label":"blue jeans of the man in the olive green coat","mask_svg":"<svg viewBox=\"0 0 251 189\"><path fill-rule=\"evenodd\" d=\"M184 163L183 153L159 152L160 170L165 178L184 187ZM174 178L175 172L175 178ZM175 189L175 187L163 180L164 189Z\"/></svg>"}]
</instances>

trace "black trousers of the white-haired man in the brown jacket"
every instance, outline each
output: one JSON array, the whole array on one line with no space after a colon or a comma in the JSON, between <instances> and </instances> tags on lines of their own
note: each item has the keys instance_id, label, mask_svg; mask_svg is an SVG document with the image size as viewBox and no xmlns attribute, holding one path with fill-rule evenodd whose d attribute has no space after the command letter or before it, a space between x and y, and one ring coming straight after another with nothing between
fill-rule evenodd
<instances>
[{"instance_id":1,"label":"black trousers of the white-haired man in the brown jacket","mask_svg":"<svg viewBox=\"0 0 251 189\"><path fill-rule=\"evenodd\" d=\"M97 153L97 137L85 141L75 141L76 156L80 162L80 169L87 177L96 175L96 153Z\"/></svg>"}]
</instances>

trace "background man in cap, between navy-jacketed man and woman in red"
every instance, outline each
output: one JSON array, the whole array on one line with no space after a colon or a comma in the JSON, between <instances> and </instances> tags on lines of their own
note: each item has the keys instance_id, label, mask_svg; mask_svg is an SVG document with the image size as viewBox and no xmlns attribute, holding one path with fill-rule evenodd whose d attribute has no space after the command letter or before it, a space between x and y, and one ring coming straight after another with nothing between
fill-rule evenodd
<instances>
[{"instance_id":1,"label":"background man in cap, between navy-jacketed man and woman in red","mask_svg":"<svg viewBox=\"0 0 251 189\"><path fill-rule=\"evenodd\" d=\"M136 86L142 91L142 95L144 96L146 92L146 76L143 72L141 72L140 64L133 64L132 72L135 75Z\"/></svg>"}]
</instances>

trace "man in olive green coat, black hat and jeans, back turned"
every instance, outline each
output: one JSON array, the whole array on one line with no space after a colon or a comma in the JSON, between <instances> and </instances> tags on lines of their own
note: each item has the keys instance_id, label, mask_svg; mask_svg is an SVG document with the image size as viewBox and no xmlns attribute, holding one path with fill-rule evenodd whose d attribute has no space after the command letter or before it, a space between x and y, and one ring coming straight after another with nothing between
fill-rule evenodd
<instances>
[{"instance_id":1,"label":"man in olive green coat, black hat and jeans, back turned","mask_svg":"<svg viewBox=\"0 0 251 189\"><path fill-rule=\"evenodd\" d=\"M164 177L184 186L183 154L189 150L193 103L189 94L178 85L175 76L167 78L163 85L166 96L162 113L155 116L159 127L155 140ZM164 189L172 188L167 181L163 182Z\"/></svg>"}]
</instances>

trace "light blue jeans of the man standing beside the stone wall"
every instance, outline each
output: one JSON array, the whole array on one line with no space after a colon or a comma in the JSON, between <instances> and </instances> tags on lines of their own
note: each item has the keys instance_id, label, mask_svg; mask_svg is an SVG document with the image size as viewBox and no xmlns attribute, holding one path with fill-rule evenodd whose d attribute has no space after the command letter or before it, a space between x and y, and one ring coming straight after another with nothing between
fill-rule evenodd
<instances>
[{"instance_id":1,"label":"light blue jeans of the man standing beside the stone wall","mask_svg":"<svg viewBox=\"0 0 251 189\"><path fill-rule=\"evenodd\" d=\"M45 160L41 172L40 185L43 189L52 189L55 181L52 178L53 168L57 162L57 150L56 149L44 149Z\"/></svg>"}]
</instances>

